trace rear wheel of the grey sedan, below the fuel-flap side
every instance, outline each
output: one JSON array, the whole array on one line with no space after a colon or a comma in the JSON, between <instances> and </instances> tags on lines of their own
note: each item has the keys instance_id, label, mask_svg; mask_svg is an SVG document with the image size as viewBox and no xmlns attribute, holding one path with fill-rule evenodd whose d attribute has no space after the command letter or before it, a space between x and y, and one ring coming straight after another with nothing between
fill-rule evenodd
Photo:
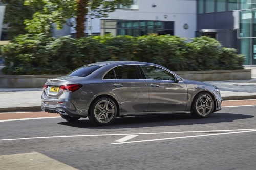
<instances>
[{"instance_id":1,"label":"rear wheel of the grey sedan, below the fuel-flap side","mask_svg":"<svg viewBox=\"0 0 256 170\"><path fill-rule=\"evenodd\" d=\"M96 125L106 126L114 122L117 116L117 107L115 102L106 97L97 99L90 107L88 118Z\"/></svg>"}]
</instances>

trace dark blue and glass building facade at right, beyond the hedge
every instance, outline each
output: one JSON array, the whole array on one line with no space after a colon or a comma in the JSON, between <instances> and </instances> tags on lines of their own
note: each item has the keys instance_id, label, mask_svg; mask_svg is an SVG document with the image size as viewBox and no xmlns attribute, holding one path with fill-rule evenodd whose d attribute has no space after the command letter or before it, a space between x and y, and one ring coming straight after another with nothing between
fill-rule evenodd
<instances>
[{"instance_id":1,"label":"dark blue and glass building facade at right, beyond the hedge","mask_svg":"<svg viewBox=\"0 0 256 170\"><path fill-rule=\"evenodd\" d=\"M237 48L245 65L256 65L256 0L198 0L197 13L199 34Z\"/></svg>"}]
</instances>

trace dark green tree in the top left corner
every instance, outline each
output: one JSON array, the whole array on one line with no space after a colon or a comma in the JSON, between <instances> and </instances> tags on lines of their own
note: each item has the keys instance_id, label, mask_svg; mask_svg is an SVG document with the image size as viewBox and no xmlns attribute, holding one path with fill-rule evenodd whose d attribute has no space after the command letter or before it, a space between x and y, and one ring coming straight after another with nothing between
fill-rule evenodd
<instances>
[{"instance_id":1,"label":"dark green tree in the top left corner","mask_svg":"<svg viewBox=\"0 0 256 170\"><path fill-rule=\"evenodd\" d=\"M33 14L42 7L35 4L33 8L24 5L25 0L2 0L1 4L6 5L4 23L8 23L8 37L12 39L19 34L26 34L25 19L33 19Z\"/></svg>"}]
</instances>

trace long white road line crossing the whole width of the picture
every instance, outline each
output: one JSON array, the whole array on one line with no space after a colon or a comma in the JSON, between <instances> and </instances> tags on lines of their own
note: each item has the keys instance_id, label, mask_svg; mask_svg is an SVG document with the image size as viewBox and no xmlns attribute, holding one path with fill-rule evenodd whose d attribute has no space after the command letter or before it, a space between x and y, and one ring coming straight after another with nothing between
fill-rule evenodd
<instances>
[{"instance_id":1,"label":"long white road line crossing the whole width of the picture","mask_svg":"<svg viewBox=\"0 0 256 170\"><path fill-rule=\"evenodd\" d=\"M0 141L8 140L27 140L27 139L49 139L49 138L64 138L64 137L90 137L90 136L122 136L122 135L152 135L152 134L172 134L172 133L197 133L197 132L226 132L226 131L249 131L256 129L231 129L231 130L211 130L211 131L184 131L184 132L156 132L156 133L126 133L126 134L102 134L102 135L73 135L73 136L47 136L47 137L28 137L16 139L0 139Z\"/></svg>"}]
</instances>

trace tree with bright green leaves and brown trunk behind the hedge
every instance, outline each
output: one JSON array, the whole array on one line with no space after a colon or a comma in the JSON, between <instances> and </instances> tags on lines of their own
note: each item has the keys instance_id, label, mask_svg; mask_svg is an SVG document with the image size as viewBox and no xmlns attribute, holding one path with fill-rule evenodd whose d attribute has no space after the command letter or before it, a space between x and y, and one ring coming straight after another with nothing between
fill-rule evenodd
<instances>
[{"instance_id":1,"label":"tree with bright green leaves and brown trunk behind the hedge","mask_svg":"<svg viewBox=\"0 0 256 170\"><path fill-rule=\"evenodd\" d=\"M25 5L43 6L41 11L34 14L32 20L25 20L26 29L32 33L50 32L52 23L56 23L58 29L63 28L66 19L76 18L76 37L84 37L86 15L91 6L91 17L107 17L114 12L118 4L129 6L133 0L25 0ZM73 23L70 23L72 26Z\"/></svg>"}]
</instances>

